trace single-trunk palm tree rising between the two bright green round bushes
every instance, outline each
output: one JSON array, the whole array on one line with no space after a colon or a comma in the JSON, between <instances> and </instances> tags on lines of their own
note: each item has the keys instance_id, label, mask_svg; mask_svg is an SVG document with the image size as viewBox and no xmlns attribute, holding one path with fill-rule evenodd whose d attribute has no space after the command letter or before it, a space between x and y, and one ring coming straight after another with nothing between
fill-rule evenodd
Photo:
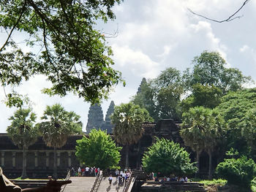
<instances>
[{"instance_id":1,"label":"single-trunk palm tree rising between the two bright green round bushes","mask_svg":"<svg viewBox=\"0 0 256 192\"><path fill-rule=\"evenodd\" d=\"M111 116L115 125L113 135L116 142L125 146L126 161L125 167L129 167L129 145L137 143L143 135L142 123L152 121L146 109L129 102L116 106Z\"/></svg>"}]
</instances>

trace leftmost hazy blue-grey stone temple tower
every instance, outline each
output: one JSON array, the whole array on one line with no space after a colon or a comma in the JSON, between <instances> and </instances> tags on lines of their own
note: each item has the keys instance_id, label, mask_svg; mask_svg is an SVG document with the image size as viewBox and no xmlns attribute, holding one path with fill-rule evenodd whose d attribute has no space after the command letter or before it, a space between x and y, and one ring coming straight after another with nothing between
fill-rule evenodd
<instances>
[{"instance_id":1,"label":"leftmost hazy blue-grey stone temple tower","mask_svg":"<svg viewBox=\"0 0 256 192\"><path fill-rule=\"evenodd\" d=\"M103 112L102 107L100 104L91 104L88 112L88 121L86 125L86 132L90 133L91 129L102 128L102 124L104 123L103 120Z\"/></svg>"}]
</instances>

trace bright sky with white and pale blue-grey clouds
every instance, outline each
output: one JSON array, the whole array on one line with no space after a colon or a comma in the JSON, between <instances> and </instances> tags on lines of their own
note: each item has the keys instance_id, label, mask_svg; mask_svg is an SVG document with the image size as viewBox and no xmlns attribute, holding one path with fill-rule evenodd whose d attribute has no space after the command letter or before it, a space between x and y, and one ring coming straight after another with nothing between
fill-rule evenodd
<instances>
[{"instance_id":1,"label":"bright sky with white and pale blue-grey clouds","mask_svg":"<svg viewBox=\"0 0 256 192\"><path fill-rule=\"evenodd\" d=\"M192 67L192 59L204 50L218 51L227 67L240 69L244 75L256 80L256 1L249 1L238 12L240 19L215 23L193 15L187 8L208 18L223 20L241 7L244 0L124 0L114 7L116 20L99 23L97 28L108 34L113 49L114 69L122 73L127 85L113 87L108 100L102 101L105 116L110 101L116 105L127 103L138 91L143 77L151 79L167 67L181 72ZM17 38L22 35L16 34ZM0 45L4 35L0 34ZM24 47L26 49L26 47ZM90 104L69 94L63 98L49 97L41 93L50 85L39 75L18 88L19 93L28 94L38 120L47 105L60 103L65 110L80 115L83 131ZM10 116L15 111L4 105L3 88L0 88L0 133L10 126Z\"/></svg>"}]
</instances>

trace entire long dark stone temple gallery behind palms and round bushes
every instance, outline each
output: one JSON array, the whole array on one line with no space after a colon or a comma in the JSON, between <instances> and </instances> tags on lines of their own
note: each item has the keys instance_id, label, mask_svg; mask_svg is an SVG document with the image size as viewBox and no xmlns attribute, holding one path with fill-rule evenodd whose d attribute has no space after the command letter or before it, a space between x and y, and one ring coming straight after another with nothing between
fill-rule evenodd
<instances>
[{"instance_id":1,"label":"entire long dark stone temple gallery behind palms and round bushes","mask_svg":"<svg viewBox=\"0 0 256 192\"><path fill-rule=\"evenodd\" d=\"M158 123L143 123L144 134L140 141L129 147L129 164L131 168L138 168L141 158L147 147L151 146L155 137L166 138L175 142L183 141L178 133L178 124L173 120L159 120ZM67 144L57 151L57 166L59 177L65 177L67 169L78 168L80 165L75 156L76 140L82 135L70 135ZM124 167L125 151L121 150L120 166ZM7 177L20 177L22 172L22 150L13 145L7 134L0 134L0 166ZM47 147L42 137L39 137L34 145L29 147L27 153L27 174L29 177L46 178L53 174L53 148Z\"/></svg>"}]
</instances>

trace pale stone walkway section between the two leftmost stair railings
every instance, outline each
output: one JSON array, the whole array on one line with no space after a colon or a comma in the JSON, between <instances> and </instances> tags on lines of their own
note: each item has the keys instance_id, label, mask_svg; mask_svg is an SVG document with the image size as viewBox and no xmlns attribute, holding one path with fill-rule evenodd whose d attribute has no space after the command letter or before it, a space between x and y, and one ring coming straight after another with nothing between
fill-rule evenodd
<instances>
[{"instance_id":1,"label":"pale stone walkway section between the two leftmost stair railings","mask_svg":"<svg viewBox=\"0 0 256 192\"><path fill-rule=\"evenodd\" d=\"M89 192L96 177L70 177L72 183L68 184L64 192Z\"/></svg>"}]
</instances>

